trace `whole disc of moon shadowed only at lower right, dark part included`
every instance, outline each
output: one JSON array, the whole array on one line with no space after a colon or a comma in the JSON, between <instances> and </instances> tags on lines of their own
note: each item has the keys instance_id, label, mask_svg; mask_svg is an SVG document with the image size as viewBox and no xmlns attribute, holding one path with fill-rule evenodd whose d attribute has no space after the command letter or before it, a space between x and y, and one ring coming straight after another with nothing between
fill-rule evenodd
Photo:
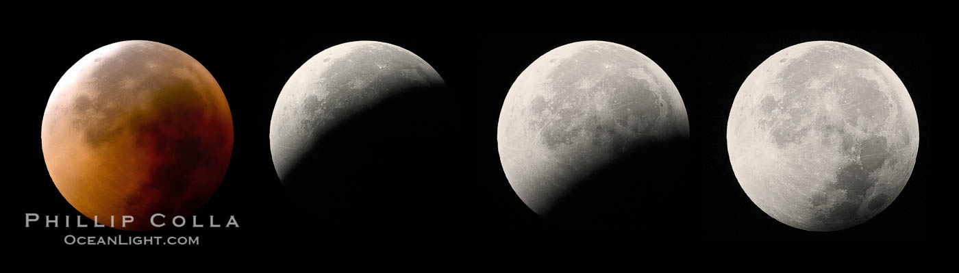
<instances>
[{"instance_id":1,"label":"whole disc of moon shadowed only at lower right, dark part included","mask_svg":"<svg viewBox=\"0 0 959 273\"><path fill-rule=\"evenodd\" d=\"M620 44L582 41L537 58L516 79L497 142L509 184L540 216L651 223L660 220L641 214L638 201L668 195L657 189L678 177L651 164L677 163L661 156L679 153L670 149L689 135L686 106L663 69Z\"/></svg>"}]
</instances>

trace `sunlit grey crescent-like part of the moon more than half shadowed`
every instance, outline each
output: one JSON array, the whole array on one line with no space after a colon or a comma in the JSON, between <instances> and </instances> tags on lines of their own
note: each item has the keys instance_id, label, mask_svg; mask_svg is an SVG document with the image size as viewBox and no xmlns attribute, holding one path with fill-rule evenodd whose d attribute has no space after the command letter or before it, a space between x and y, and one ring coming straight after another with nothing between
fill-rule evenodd
<instances>
[{"instance_id":1,"label":"sunlit grey crescent-like part of the moon more than half shadowed","mask_svg":"<svg viewBox=\"0 0 959 273\"><path fill-rule=\"evenodd\" d=\"M322 181L324 177L329 178L336 174L334 172L344 171L343 168L328 170L328 167L332 165L316 163L319 161L305 163L308 158L313 156L338 156L327 151L317 151L318 147L351 146L352 151L346 150L339 154L353 156L353 154L347 153L362 153L363 148L370 146L369 142L359 141L358 139L366 140L366 138L369 138L369 141L372 142L417 133L416 130L418 129L410 127L414 126L415 123L420 123L415 118L397 118L393 121L383 122L385 121L383 117L398 117L404 115L404 113L429 107L429 105L416 104L416 102L428 100L429 96L415 97L422 100L396 102L397 98L413 98L410 97L410 95L415 95L412 93L443 87L445 87L444 81L430 64L413 53L392 44L376 41L354 41L333 46L316 54L293 73L290 80L283 86L273 109L272 118L269 122L269 149L277 175L292 191L304 189L292 184L324 183ZM384 109L385 106L398 108L390 108L391 110L388 113L380 113L383 114L381 115L383 117L378 118L381 121L380 123L376 125L368 124L370 120L368 113ZM432 114L436 115L436 113ZM363 122L360 121L363 117L365 117L364 121L367 124L362 124ZM398 123L403 123L404 126L388 131L373 131L375 128L372 128ZM406 126L407 124L409 126ZM368 126L370 128L368 130L366 128L356 129L356 132L351 132L354 134L349 137L340 138L336 141L332 140L332 135L338 135L339 133L341 136L343 127L348 126ZM404 130L413 130L413 132ZM352 148L352 146L356 146L356 148ZM323 154L324 152L327 153ZM384 156L390 156L382 154L384 152L382 149L368 150L368 152L375 154L356 155L359 158L357 160L363 160L363 162L356 162L356 164L335 162L338 160L345 161L345 158L325 158L322 162L332 162L332 164L342 164L345 167L352 168L355 165L369 164L382 159ZM304 173L306 175L304 179L293 179L292 171L295 171L294 169L298 165L303 164L323 166L308 166L304 169L312 171ZM365 170L365 172L369 171L371 170ZM356 180L355 178L356 176L344 180ZM326 182L332 183L329 179ZM364 183L366 181L355 182ZM290 186L294 188L290 188ZM321 189L322 187L312 185L309 188ZM305 194L309 195L310 193Z\"/></svg>"}]
</instances>

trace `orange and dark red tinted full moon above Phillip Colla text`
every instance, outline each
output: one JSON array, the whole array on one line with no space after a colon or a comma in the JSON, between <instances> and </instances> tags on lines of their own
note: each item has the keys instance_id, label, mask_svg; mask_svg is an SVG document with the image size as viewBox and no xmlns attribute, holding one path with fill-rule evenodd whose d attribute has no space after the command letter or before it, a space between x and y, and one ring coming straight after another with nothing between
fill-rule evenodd
<instances>
[{"instance_id":1,"label":"orange and dark red tinted full moon above Phillip Colla text","mask_svg":"<svg viewBox=\"0 0 959 273\"><path fill-rule=\"evenodd\" d=\"M149 230L153 214L189 216L216 192L233 120L199 61L162 43L122 41L60 78L40 138L50 177L74 208L107 226L114 216L115 228ZM122 216L134 221L123 227Z\"/></svg>"}]
</instances>

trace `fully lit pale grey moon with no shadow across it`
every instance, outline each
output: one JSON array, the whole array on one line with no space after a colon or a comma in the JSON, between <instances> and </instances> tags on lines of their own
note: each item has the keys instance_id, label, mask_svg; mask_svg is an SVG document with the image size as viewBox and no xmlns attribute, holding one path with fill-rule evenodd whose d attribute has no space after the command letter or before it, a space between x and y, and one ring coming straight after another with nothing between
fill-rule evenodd
<instances>
[{"instance_id":1,"label":"fully lit pale grey moon with no shadow across it","mask_svg":"<svg viewBox=\"0 0 959 273\"><path fill-rule=\"evenodd\" d=\"M860 224L901 193L919 123L899 77L852 45L814 41L763 61L742 83L727 128L743 191L808 231Z\"/></svg>"}]
</instances>

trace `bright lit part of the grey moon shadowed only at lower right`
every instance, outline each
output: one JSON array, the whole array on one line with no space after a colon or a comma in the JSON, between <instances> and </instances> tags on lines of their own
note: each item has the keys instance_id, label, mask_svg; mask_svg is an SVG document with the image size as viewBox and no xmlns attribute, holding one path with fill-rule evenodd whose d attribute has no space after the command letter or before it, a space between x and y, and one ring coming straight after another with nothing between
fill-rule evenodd
<instances>
[{"instance_id":1,"label":"bright lit part of the grey moon shadowed only at lower right","mask_svg":"<svg viewBox=\"0 0 959 273\"><path fill-rule=\"evenodd\" d=\"M633 148L689 134L679 91L655 62L620 44L581 41L520 74L503 102L497 143L513 190L549 217L580 184L595 183L587 177Z\"/></svg>"}]
</instances>

